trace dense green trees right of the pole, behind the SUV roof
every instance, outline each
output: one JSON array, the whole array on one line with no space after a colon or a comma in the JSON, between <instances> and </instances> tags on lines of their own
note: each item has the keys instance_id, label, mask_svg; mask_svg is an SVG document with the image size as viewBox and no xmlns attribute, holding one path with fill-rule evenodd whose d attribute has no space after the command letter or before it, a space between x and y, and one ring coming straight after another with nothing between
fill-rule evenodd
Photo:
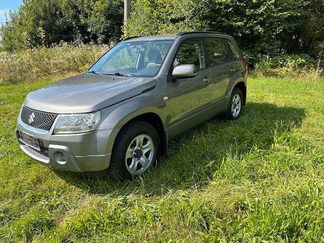
<instances>
[{"instance_id":1,"label":"dense green trees right of the pole, behind the SUV roof","mask_svg":"<svg viewBox=\"0 0 324 243\"><path fill-rule=\"evenodd\" d=\"M136 0L127 30L131 36L225 32L236 39L249 63L255 63L263 55L281 53L315 57L323 42L323 16L324 2L318 0ZM305 29L307 34L302 34Z\"/></svg>"}]
</instances>

